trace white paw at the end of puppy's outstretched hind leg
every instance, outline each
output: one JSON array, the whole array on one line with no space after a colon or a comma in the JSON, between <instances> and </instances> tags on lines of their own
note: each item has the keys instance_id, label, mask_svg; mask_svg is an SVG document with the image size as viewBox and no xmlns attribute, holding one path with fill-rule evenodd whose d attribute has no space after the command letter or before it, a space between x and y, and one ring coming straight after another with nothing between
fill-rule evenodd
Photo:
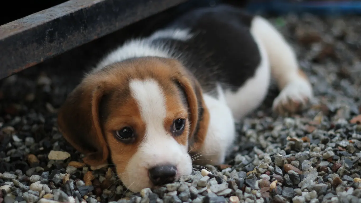
<instances>
[{"instance_id":1,"label":"white paw at the end of puppy's outstretched hind leg","mask_svg":"<svg viewBox=\"0 0 361 203\"><path fill-rule=\"evenodd\" d=\"M303 78L296 78L274 99L272 109L282 116L292 115L305 109L312 100L313 89L310 83Z\"/></svg>"}]
</instances>

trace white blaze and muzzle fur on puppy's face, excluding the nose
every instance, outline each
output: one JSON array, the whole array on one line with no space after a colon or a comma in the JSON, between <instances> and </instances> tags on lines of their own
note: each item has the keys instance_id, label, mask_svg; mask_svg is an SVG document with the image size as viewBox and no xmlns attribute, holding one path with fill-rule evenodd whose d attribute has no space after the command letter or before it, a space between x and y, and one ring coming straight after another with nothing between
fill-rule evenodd
<instances>
[{"instance_id":1,"label":"white blaze and muzzle fur on puppy's face, excluding the nose","mask_svg":"<svg viewBox=\"0 0 361 203\"><path fill-rule=\"evenodd\" d=\"M137 152L126 166L122 182L132 191L152 187L148 169L157 165L172 164L177 167L176 178L192 172L192 162L187 147L179 144L164 129L166 117L165 97L162 88L153 79L130 82L131 94L137 101L145 122L145 137Z\"/></svg>"}]
</instances>

